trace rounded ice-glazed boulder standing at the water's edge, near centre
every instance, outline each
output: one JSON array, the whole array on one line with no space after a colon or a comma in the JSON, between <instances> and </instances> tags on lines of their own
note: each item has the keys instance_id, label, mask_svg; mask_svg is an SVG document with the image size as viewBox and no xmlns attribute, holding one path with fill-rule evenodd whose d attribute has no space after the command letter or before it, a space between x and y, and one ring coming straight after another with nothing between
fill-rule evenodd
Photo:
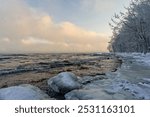
<instances>
[{"instance_id":1,"label":"rounded ice-glazed boulder standing at the water's edge, near centre","mask_svg":"<svg viewBox=\"0 0 150 117\"><path fill-rule=\"evenodd\" d=\"M81 87L77 77L71 72L62 72L50 78L48 80L48 85L55 92L62 94Z\"/></svg>"}]
</instances>

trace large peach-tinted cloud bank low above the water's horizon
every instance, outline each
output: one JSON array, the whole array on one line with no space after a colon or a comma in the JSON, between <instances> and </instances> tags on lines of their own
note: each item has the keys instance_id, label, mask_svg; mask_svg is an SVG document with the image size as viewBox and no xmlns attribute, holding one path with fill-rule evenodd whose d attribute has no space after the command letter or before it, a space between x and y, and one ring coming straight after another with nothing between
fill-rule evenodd
<instances>
[{"instance_id":1,"label":"large peach-tinted cloud bank low above the water's horizon","mask_svg":"<svg viewBox=\"0 0 150 117\"><path fill-rule=\"evenodd\" d=\"M107 35L87 31L71 22L55 23L23 0L0 1L0 52L107 51Z\"/></svg>"}]
</instances>

